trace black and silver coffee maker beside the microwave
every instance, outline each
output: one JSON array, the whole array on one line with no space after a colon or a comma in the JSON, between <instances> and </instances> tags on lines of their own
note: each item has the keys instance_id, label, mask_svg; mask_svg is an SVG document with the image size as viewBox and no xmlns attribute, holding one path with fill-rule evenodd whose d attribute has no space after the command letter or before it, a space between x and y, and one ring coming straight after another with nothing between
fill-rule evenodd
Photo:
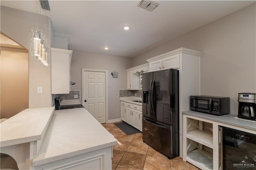
<instances>
[{"instance_id":1,"label":"black and silver coffee maker beside the microwave","mask_svg":"<svg viewBox=\"0 0 256 170\"><path fill-rule=\"evenodd\" d=\"M238 93L238 118L256 121L256 93Z\"/></svg>"}]
</instances>

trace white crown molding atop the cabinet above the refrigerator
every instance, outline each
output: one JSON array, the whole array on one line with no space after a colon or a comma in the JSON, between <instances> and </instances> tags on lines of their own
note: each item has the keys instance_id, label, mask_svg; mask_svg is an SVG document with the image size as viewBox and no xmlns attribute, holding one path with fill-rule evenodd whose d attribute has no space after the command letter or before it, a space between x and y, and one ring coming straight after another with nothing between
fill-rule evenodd
<instances>
[{"instance_id":1,"label":"white crown molding atop the cabinet above the refrigerator","mask_svg":"<svg viewBox=\"0 0 256 170\"><path fill-rule=\"evenodd\" d=\"M173 51L169 51L167 53L163 53L163 54L157 55L156 57L152 57L150 59L146 59L146 61L152 62L152 61L156 61L156 60L163 59L165 57L169 57L171 55L176 55L176 54L180 54L180 53L195 55L195 56L198 56L198 57L200 57L202 55L201 51L196 51L194 49L188 49L188 48L181 47L181 48L175 49Z\"/></svg>"}]
</instances>

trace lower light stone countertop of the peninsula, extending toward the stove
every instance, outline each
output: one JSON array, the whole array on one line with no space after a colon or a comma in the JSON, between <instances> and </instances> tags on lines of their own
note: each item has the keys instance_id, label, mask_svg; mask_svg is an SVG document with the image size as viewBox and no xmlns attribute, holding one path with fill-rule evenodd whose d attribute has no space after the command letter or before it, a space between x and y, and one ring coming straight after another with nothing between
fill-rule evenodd
<instances>
[{"instance_id":1,"label":"lower light stone countertop of the peninsula, extending toward the stove","mask_svg":"<svg viewBox=\"0 0 256 170\"><path fill-rule=\"evenodd\" d=\"M32 166L46 164L117 144L85 108L56 110Z\"/></svg>"}]
</instances>

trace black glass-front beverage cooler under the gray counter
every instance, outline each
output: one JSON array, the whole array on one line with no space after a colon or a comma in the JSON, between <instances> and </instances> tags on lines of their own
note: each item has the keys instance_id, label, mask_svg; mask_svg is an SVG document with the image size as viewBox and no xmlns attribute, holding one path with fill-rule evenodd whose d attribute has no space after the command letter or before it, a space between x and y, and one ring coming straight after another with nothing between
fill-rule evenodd
<instances>
[{"instance_id":1,"label":"black glass-front beverage cooler under the gray counter","mask_svg":"<svg viewBox=\"0 0 256 170\"><path fill-rule=\"evenodd\" d=\"M221 169L256 170L256 134L221 127Z\"/></svg>"}]
</instances>

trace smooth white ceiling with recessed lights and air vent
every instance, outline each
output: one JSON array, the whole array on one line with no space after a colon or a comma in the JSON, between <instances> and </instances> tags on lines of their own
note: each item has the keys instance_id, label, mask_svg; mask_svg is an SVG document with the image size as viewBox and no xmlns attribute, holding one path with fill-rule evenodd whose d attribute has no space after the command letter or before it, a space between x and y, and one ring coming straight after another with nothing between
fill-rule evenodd
<instances>
[{"instance_id":1,"label":"smooth white ceiling with recessed lights and air vent","mask_svg":"<svg viewBox=\"0 0 256 170\"><path fill-rule=\"evenodd\" d=\"M135 57L153 47L240 10L256 1L154 1L152 12L140 1L49 0L54 32L70 36L69 49ZM38 1L1 0L2 6L36 12ZM38 13L45 14L44 10ZM130 30L122 30L129 25ZM109 47L104 50L103 47Z\"/></svg>"}]
</instances>

